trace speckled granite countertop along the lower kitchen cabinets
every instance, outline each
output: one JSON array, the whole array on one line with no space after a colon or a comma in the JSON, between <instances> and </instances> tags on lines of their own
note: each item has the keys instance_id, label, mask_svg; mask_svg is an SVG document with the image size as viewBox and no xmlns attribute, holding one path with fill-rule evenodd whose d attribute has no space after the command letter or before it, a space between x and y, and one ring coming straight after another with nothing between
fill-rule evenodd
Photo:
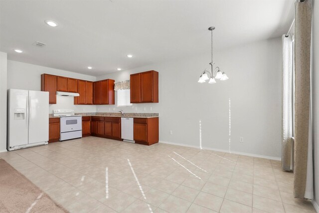
<instances>
[{"instance_id":1,"label":"speckled granite countertop along the lower kitchen cabinets","mask_svg":"<svg viewBox=\"0 0 319 213\"><path fill-rule=\"evenodd\" d=\"M99 116L99 117L124 117L124 118L158 118L159 113L124 113L122 116L121 113L117 112L77 112L75 115L82 116ZM49 118L59 118L60 116L53 116L53 114L49 114Z\"/></svg>"}]
</instances>

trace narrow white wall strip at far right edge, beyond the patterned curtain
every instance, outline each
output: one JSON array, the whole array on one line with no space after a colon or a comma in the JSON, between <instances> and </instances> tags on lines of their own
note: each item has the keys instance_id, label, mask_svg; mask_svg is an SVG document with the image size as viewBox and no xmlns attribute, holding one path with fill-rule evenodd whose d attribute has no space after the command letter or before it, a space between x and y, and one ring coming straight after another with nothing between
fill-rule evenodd
<instances>
[{"instance_id":1,"label":"narrow white wall strip at far right edge, beyond the patterned curtain","mask_svg":"<svg viewBox=\"0 0 319 213\"><path fill-rule=\"evenodd\" d=\"M319 212L319 0L313 1L313 130L314 130L314 187Z\"/></svg>"}]
</instances>

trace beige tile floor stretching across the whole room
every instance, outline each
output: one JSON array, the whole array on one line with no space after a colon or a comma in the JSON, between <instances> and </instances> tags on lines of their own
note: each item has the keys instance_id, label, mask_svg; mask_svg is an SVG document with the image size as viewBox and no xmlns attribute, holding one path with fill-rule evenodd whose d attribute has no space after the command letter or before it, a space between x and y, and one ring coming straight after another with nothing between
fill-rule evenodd
<instances>
[{"instance_id":1,"label":"beige tile floor stretching across the whole room","mask_svg":"<svg viewBox=\"0 0 319 213\"><path fill-rule=\"evenodd\" d=\"M71 213L315 212L279 161L97 137L0 158Z\"/></svg>"}]
</instances>

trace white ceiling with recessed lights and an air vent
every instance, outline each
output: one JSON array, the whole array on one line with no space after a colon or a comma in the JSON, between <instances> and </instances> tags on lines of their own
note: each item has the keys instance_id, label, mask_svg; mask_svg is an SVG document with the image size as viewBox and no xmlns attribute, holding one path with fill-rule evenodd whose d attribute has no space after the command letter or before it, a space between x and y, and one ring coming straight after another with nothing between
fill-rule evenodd
<instances>
[{"instance_id":1,"label":"white ceiling with recessed lights and an air vent","mask_svg":"<svg viewBox=\"0 0 319 213\"><path fill-rule=\"evenodd\" d=\"M98 76L208 54L209 26L216 27L216 49L281 36L294 1L1 0L0 50L9 60ZM47 45L35 47L35 41Z\"/></svg>"}]
</instances>

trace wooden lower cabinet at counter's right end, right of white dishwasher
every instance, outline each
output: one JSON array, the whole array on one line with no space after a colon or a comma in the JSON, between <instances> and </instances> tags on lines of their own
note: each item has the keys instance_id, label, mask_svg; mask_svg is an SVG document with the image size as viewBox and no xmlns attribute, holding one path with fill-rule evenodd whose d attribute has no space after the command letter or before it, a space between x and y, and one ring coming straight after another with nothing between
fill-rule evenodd
<instances>
[{"instance_id":1,"label":"wooden lower cabinet at counter's right end, right of white dishwasher","mask_svg":"<svg viewBox=\"0 0 319 213\"><path fill-rule=\"evenodd\" d=\"M134 118L134 140L137 144L159 142L159 118Z\"/></svg>"}]
</instances>

